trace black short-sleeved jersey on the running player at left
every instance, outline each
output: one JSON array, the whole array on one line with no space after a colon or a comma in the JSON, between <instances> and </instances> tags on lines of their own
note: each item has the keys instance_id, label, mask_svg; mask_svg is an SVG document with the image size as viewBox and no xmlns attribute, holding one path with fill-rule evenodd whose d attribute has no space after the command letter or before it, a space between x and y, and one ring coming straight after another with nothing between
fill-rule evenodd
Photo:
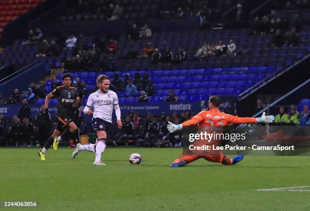
<instances>
[{"instance_id":1,"label":"black short-sleeved jersey on the running player at left","mask_svg":"<svg viewBox=\"0 0 310 211\"><path fill-rule=\"evenodd\" d=\"M74 87L57 86L51 93L57 97L57 115L70 116L72 104L79 96L78 90Z\"/></svg>"}]
</instances>

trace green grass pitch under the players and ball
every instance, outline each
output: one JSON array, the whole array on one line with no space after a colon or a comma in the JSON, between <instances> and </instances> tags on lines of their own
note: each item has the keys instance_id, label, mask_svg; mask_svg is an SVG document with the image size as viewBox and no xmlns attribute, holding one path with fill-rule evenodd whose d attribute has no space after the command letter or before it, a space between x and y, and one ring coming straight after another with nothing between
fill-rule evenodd
<instances>
[{"instance_id":1,"label":"green grass pitch under the players and ball","mask_svg":"<svg viewBox=\"0 0 310 211\"><path fill-rule=\"evenodd\" d=\"M235 166L198 160L169 165L181 148L107 147L94 153L50 149L41 161L33 148L0 148L0 210L309 210L308 191L257 191L310 185L309 156L248 155ZM128 157L138 152L140 165ZM37 206L4 207L4 201Z\"/></svg>"}]
</instances>

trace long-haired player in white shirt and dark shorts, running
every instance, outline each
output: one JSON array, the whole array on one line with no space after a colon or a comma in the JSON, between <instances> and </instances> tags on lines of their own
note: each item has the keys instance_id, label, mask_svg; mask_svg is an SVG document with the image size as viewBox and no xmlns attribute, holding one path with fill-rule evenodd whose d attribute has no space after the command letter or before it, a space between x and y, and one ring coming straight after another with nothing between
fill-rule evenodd
<instances>
[{"instance_id":1,"label":"long-haired player in white shirt and dark shorts, running","mask_svg":"<svg viewBox=\"0 0 310 211\"><path fill-rule=\"evenodd\" d=\"M96 152L94 165L103 166L105 164L101 161L101 154L106 146L106 131L112 123L113 109L115 109L119 128L122 128L122 121L119 98L117 93L109 90L110 79L108 76L99 75L97 85L99 90L89 95L84 109L85 114L93 115L92 127L96 133L96 144L77 144L72 158L75 158L82 150Z\"/></svg>"}]
</instances>

